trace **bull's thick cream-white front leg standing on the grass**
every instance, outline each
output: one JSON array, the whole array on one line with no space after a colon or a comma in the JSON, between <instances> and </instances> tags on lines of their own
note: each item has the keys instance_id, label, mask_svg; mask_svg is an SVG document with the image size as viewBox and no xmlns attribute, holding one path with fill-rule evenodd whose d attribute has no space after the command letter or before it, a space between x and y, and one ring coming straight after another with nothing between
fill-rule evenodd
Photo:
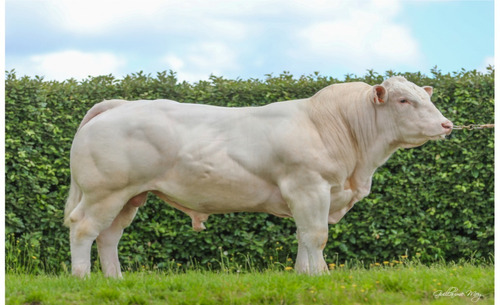
<instances>
[{"instance_id":1,"label":"bull's thick cream-white front leg standing on the grass","mask_svg":"<svg viewBox=\"0 0 500 305\"><path fill-rule=\"evenodd\" d=\"M280 189L297 225L299 248L295 269L308 274L328 272L323 249L328 239L330 185L318 177L289 180Z\"/></svg>"}]
</instances>

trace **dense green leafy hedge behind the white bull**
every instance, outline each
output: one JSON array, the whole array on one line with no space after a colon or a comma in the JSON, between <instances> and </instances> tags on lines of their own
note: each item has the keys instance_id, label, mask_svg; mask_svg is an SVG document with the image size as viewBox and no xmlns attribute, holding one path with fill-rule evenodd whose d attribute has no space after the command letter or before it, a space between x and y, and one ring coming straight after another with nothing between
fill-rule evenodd
<instances>
[{"instance_id":1,"label":"dense green leafy hedge behind the white bull","mask_svg":"<svg viewBox=\"0 0 500 305\"><path fill-rule=\"evenodd\" d=\"M493 123L494 70L487 73L431 71L402 73L419 85L435 87L433 100L456 125ZM395 75L369 71L344 80L289 73L264 80L211 77L195 84L178 82L173 72L143 73L123 79L45 81L6 74L6 235L8 251L36 258L45 270L70 262L68 229L62 226L73 135L85 112L103 99L168 98L186 103L258 106L309 97L337 82L381 83ZM327 262L383 261L408 254L435 259L489 259L493 253L493 129L455 131L447 141L399 150L373 178L372 193L337 225L330 226ZM196 233L190 218L150 196L120 243L124 265L155 265L174 260L217 267L221 256L255 267L295 259L291 219L267 214L212 215L207 230ZM17 243L17 244L16 244ZM16 248L17 249L17 248ZM27 251L29 250L29 251ZM10 255L9 255L10 257ZM34 257L34 258L33 258ZM96 258L95 249L93 258ZM8 260L10 263L12 259ZM288 261L289 262L289 261ZM9 266L7 266L9 267Z\"/></svg>"}]
</instances>

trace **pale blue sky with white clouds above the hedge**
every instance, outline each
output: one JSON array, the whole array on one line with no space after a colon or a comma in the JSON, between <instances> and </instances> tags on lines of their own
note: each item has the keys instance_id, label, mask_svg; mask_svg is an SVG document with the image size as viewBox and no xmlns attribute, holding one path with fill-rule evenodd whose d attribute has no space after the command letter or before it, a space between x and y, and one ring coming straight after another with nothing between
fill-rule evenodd
<instances>
[{"instance_id":1,"label":"pale blue sky with white clouds above the hedge","mask_svg":"<svg viewBox=\"0 0 500 305\"><path fill-rule=\"evenodd\" d=\"M173 70L264 78L478 69L493 0L6 0L5 68L46 79Z\"/></svg>"}]
</instances>

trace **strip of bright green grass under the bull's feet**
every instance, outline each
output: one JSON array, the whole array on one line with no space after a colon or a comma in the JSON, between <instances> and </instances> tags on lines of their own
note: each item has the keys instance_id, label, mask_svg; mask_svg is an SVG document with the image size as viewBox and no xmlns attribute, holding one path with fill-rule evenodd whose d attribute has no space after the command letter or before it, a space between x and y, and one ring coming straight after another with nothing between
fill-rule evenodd
<instances>
[{"instance_id":1,"label":"strip of bright green grass under the bull's feet","mask_svg":"<svg viewBox=\"0 0 500 305\"><path fill-rule=\"evenodd\" d=\"M493 265L330 266L329 275L266 272L6 274L7 304L494 304Z\"/></svg>"}]
</instances>

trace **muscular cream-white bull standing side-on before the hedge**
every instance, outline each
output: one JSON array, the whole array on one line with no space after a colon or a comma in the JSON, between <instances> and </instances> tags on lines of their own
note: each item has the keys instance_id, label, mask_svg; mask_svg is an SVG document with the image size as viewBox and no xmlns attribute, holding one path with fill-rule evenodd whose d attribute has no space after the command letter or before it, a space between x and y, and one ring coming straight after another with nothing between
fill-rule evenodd
<instances>
[{"instance_id":1,"label":"muscular cream-white bull standing side-on before the hedge","mask_svg":"<svg viewBox=\"0 0 500 305\"><path fill-rule=\"evenodd\" d=\"M326 271L328 224L369 194L376 168L398 148L451 133L431 95L431 87L393 77L262 107L99 103L71 149L65 224L73 274L90 273L97 239L104 274L121 276L117 245L148 192L188 214L195 230L210 214L293 217L295 269Z\"/></svg>"}]
</instances>

